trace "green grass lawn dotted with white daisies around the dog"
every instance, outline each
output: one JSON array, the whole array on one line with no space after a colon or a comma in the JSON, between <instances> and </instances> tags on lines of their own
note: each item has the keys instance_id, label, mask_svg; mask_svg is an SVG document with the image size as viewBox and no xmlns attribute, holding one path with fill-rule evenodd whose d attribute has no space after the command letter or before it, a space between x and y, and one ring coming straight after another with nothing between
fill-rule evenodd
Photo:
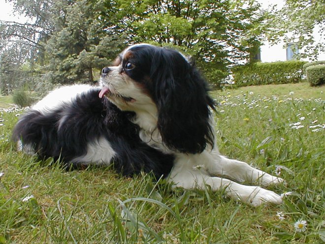
<instances>
[{"instance_id":1,"label":"green grass lawn dotted with white daisies around the dog","mask_svg":"<svg viewBox=\"0 0 325 244\"><path fill-rule=\"evenodd\" d=\"M269 189L292 192L280 206L258 208L208 188L173 189L163 180L153 182L149 175L130 179L110 168L65 172L57 164L48 167L51 159L40 162L15 151L9 138L18 112L2 111L0 243L324 242L324 87L304 93L304 86L213 92L220 102L216 114L220 151L268 173L281 168L287 185ZM300 126L293 125L297 122ZM307 230L301 233L294 228L300 219L307 221Z\"/></svg>"}]
</instances>

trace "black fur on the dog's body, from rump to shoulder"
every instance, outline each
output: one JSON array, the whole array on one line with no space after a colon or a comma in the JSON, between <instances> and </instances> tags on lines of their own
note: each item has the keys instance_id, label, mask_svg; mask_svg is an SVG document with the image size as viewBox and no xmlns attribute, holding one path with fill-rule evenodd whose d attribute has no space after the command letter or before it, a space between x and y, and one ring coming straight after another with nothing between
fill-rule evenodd
<instances>
[{"instance_id":1,"label":"black fur on the dog's body, from rump to shoulder","mask_svg":"<svg viewBox=\"0 0 325 244\"><path fill-rule=\"evenodd\" d=\"M142 142L138 126L129 120L133 113L122 112L106 98L98 98L98 92L99 89L92 89L77 95L72 104L63 104L47 115L30 111L16 124L13 139L33 145L41 158L61 158L70 167L69 161L85 154L89 142L105 137L116 152L113 161L118 172L133 176L143 170L156 178L167 176L173 155ZM59 128L63 116L65 122Z\"/></svg>"}]
</instances>

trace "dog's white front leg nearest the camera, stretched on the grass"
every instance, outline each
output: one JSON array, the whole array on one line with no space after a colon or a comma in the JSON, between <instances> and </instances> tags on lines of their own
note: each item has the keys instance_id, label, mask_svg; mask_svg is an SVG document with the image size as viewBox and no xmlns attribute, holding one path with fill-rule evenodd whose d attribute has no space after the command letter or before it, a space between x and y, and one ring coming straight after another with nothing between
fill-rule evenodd
<instances>
[{"instance_id":1,"label":"dog's white front leg nearest the camera, stretched on the grass","mask_svg":"<svg viewBox=\"0 0 325 244\"><path fill-rule=\"evenodd\" d=\"M210 177L203 172L177 172L177 174L169 178L169 180L175 183L176 186L186 189L205 189L206 185L210 185L213 191L224 189L227 196L231 199L240 200L253 207L260 206L263 203L282 203L282 197L273 191L263 189L260 186L242 185L227 179Z\"/></svg>"}]
</instances>

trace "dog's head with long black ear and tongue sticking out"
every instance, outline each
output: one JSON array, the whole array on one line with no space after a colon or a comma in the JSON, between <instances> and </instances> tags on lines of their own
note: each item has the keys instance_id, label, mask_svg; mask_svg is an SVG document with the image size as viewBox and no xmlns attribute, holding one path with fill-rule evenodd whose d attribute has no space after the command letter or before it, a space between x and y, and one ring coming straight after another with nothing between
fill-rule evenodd
<instances>
[{"instance_id":1,"label":"dog's head with long black ear and tongue sticking out","mask_svg":"<svg viewBox=\"0 0 325 244\"><path fill-rule=\"evenodd\" d=\"M213 146L210 109L213 100L194 64L178 51L137 44L102 69L99 97L121 110L157 118L162 142L172 150L202 152Z\"/></svg>"}]
</instances>

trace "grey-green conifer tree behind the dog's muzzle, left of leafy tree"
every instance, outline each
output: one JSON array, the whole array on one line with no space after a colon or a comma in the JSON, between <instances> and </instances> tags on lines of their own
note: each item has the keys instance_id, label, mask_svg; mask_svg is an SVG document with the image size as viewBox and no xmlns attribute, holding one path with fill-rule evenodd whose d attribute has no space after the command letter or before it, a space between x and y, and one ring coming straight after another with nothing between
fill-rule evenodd
<instances>
[{"instance_id":1,"label":"grey-green conifer tree behind the dog's muzzle, left of leafy tree","mask_svg":"<svg viewBox=\"0 0 325 244\"><path fill-rule=\"evenodd\" d=\"M122 38L107 29L112 23L104 9L100 0L80 0L66 9L65 27L45 45L51 80L94 83L93 69L101 70L124 48Z\"/></svg>"}]
</instances>

